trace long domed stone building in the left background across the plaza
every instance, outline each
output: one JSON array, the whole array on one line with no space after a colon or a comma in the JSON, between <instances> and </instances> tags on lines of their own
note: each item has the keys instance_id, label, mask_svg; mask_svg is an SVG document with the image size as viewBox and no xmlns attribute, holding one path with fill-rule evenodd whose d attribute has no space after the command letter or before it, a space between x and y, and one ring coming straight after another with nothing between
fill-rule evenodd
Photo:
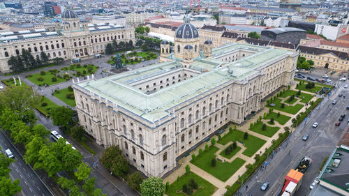
<instances>
[{"instance_id":1,"label":"long domed stone building in the left background across the plaza","mask_svg":"<svg viewBox=\"0 0 349 196\"><path fill-rule=\"evenodd\" d=\"M61 14L62 23L57 22L56 31L35 29L0 33L0 72L10 72L10 56L29 50L34 57L45 52L50 59L85 59L105 51L105 45L112 40L128 42L135 35L133 28L115 24L87 24L80 21L73 10Z\"/></svg>"}]
</instances>

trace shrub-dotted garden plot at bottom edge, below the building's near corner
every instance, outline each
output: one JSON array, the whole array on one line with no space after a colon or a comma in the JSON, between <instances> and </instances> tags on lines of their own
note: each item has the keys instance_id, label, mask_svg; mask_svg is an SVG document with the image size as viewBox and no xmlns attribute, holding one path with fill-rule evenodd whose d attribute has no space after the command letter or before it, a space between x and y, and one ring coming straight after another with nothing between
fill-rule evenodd
<instances>
[{"instance_id":1,"label":"shrub-dotted garden plot at bottom edge, below the building's near corner","mask_svg":"<svg viewBox=\"0 0 349 196\"><path fill-rule=\"evenodd\" d=\"M171 185L167 185L165 193L168 196L209 196L214 194L214 191L216 191L215 186L191 172L189 165L186 165L186 173L178 176Z\"/></svg>"}]
</instances>

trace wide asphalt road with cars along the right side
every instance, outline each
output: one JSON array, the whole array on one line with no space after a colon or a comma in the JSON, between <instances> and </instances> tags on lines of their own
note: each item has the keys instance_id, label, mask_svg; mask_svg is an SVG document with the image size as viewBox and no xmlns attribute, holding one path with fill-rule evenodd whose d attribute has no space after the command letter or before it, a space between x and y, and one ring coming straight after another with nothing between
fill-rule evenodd
<instances>
[{"instance_id":1,"label":"wide asphalt road with cars along the right side","mask_svg":"<svg viewBox=\"0 0 349 196\"><path fill-rule=\"evenodd\" d=\"M281 149L274 153L274 156L269 156L267 168L259 170L244 184L242 195L247 193L251 195L277 195L283 186L285 175L290 169L295 169L304 156L312 158L313 164L304 174L302 186L295 195L307 195L310 192L309 186L318 176L322 160L332 153L348 122L349 110L346 110L346 106L349 105L349 100L338 97L339 93L349 96L349 90L343 89L346 83L340 82L339 87L332 91L332 95L322 100L322 103L311 112L306 123L302 122L289 139L283 143ZM338 101L336 105L332 105L334 99ZM346 118L342 121L341 126L334 126L341 114L346 114ZM317 128L312 127L314 122L319 123ZM303 141L302 137L305 134L309 135L309 139ZM260 186L265 181L268 181L270 185L266 191L262 191Z\"/></svg>"}]
</instances>

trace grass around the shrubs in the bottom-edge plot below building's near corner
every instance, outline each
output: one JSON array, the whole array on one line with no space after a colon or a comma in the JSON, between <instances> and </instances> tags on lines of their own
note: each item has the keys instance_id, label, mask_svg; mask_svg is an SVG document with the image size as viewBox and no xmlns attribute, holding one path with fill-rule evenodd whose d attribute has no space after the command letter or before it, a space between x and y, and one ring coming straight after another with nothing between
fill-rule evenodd
<instances>
[{"instance_id":1,"label":"grass around the shrubs in the bottom-edge plot below building's near corner","mask_svg":"<svg viewBox=\"0 0 349 196\"><path fill-rule=\"evenodd\" d=\"M193 193L193 196L209 196L213 195L214 191L216 190L216 187L213 186L211 183L206 181L205 179L202 179L200 176L194 174L193 172L190 172L189 174L184 174L179 178L178 181L174 181L168 188L168 191L166 192L166 195L168 196L176 196L176 195L183 195L186 196L184 193L176 193L176 190L181 190L183 185L186 183L188 184L191 179L194 179L198 183L198 190ZM203 186L204 188L201 189L200 186Z\"/></svg>"}]
</instances>

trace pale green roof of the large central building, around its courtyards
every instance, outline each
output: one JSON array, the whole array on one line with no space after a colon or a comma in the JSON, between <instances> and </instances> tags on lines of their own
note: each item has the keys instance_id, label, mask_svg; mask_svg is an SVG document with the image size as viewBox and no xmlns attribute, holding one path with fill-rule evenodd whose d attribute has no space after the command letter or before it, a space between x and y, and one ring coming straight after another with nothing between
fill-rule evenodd
<instances>
[{"instance_id":1,"label":"pale green roof of the large central building, around its courtyards","mask_svg":"<svg viewBox=\"0 0 349 196\"><path fill-rule=\"evenodd\" d=\"M255 54L232 63L215 59L224 53L236 50L254 51ZM139 70L128 71L100 80L80 82L75 85L89 91L92 96L105 99L106 102L114 106L128 110L142 119L154 123L170 116L172 109L177 105L200 96L202 93L214 91L227 82L244 82L255 74L262 74L259 70L261 66L281 59L288 54L288 50L242 43L217 47L214 48L212 57L195 61L189 69L186 68L188 71L200 71L199 75L177 84L165 86L151 94L144 93L133 84L184 70L181 63L177 61L157 63Z\"/></svg>"}]
</instances>

